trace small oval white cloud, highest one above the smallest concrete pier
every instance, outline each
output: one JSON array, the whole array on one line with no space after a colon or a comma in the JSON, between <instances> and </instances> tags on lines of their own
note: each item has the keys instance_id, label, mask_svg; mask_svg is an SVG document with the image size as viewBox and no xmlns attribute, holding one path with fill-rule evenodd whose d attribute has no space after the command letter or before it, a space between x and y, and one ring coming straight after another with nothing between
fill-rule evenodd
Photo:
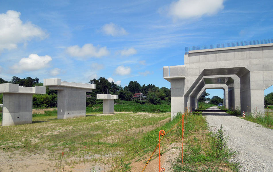
<instances>
[{"instance_id":1,"label":"small oval white cloud, highest one above the smallest concrete pier","mask_svg":"<svg viewBox=\"0 0 273 172\"><path fill-rule=\"evenodd\" d=\"M128 34L124 28L112 22L109 24L105 24L101 30L104 34L111 35L111 36L122 36L122 35Z\"/></svg>"}]
</instances>

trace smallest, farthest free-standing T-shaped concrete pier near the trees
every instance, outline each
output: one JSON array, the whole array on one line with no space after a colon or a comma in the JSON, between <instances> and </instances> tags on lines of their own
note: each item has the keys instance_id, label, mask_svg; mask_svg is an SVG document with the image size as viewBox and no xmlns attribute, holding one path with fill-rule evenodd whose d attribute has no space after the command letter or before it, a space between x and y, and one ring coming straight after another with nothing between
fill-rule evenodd
<instances>
[{"instance_id":1,"label":"smallest, farthest free-standing T-shaped concrete pier near the trees","mask_svg":"<svg viewBox=\"0 0 273 172\"><path fill-rule=\"evenodd\" d=\"M118 99L118 95L97 94L97 99L103 99L103 114L114 114L114 99Z\"/></svg>"}]
</instances>

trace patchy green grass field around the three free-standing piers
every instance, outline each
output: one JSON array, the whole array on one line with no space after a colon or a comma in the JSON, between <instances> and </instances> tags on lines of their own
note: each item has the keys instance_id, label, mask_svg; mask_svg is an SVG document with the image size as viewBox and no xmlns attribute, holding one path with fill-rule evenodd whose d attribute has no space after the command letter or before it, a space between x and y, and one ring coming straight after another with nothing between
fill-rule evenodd
<instances>
[{"instance_id":1,"label":"patchy green grass field around the three free-standing piers","mask_svg":"<svg viewBox=\"0 0 273 172\"><path fill-rule=\"evenodd\" d=\"M170 118L169 113L118 113L57 120L57 111L45 113L34 115L33 124L0 127L2 153L11 158L42 154L43 163L53 163L51 167L57 169L87 162L111 169L120 165L121 157L127 162L151 150L151 140L141 138L159 121Z\"/></svg>"}]
</instances>

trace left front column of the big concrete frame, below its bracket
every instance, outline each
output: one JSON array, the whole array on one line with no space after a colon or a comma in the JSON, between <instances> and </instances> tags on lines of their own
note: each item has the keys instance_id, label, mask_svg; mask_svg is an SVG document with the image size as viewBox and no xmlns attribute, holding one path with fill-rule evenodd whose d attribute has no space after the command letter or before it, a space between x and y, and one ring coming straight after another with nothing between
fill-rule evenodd
<instances>
[{"instance_id":1,"label":"left front column of the big concrete frame, below its bracket","mask_svg":"<svg viewBox=\"0 0 273 172\"><path fill-rule=\"evenodd\" d=\"M184 112L185 79L171 79L171 118L178 112Z\"/></svg>"}]
</instances>

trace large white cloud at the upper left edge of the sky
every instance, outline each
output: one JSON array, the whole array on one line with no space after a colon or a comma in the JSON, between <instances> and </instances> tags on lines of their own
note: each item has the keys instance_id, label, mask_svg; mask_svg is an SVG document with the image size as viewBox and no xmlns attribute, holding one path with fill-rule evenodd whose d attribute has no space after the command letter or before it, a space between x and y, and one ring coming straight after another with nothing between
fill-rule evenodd
<instances>
[{"instance_id":1,"label":"large white cloud at the upper left edge of the sky","mask_svg":"<svg viewBox=\"0 0 273 172\"><path fill-rule=\"evenodd\" d=\"M27 45L27 41L34 37L43 39L47 36L41 28L30 21L23 24L20 15L20 12L12 10L0 14L0 52L4 49L17 48L18 43Z\"/></svg>"}]
</instances>

